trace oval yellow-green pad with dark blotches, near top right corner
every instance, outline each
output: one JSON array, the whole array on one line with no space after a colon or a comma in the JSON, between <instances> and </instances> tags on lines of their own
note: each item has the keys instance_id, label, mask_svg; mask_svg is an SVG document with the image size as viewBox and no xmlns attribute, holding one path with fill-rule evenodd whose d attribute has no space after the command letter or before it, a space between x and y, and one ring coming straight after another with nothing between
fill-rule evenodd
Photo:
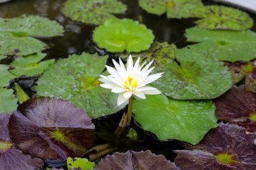
<instances>
[{"instance_id":1,"label":"oval yellow-green pad with dark blotches, near top right corner","mask_svg":"<svg viewBox=\"0 0 256 170\"><path fill-rule=\"evenodd\" d=\"M209 5L197 8L195 13L203 18L195 22L199 28L243 31L253 26L253 19L247 13L232 7Z\"/></svg>"}]
</instances>

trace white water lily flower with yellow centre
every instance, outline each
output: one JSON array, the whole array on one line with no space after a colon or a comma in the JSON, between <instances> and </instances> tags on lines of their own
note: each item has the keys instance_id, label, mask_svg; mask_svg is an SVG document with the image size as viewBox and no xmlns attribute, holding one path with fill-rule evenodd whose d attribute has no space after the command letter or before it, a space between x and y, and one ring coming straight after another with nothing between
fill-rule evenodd
<instances>
[{"instance_id":1,"label":"white water lily flower with yellow centre","mask_svg":"<svg viewBox=\"0 0 256 170\"><path fill-rule=\"evenodd\" d=\"M121 105L132 95L136 95L141 99L146 99L145 95L160 94L161 91L158 89L147 86L149 83L152 83L153 81L156 81L156 79L162 77L163 74L157 73L150 75L150 72L154 69L154 67L149 69L152 62L153 61L148 63L148 65L142 69L146 62L140 66L139 58L137 58L135 65L133 66L133 59L130 55L127 60L127 69L125 69L125 65L123 65L120 58L119 64L113 60L116 69L106 65L106 69L110 75L100 75L101 78L99 81L102 81L103 83L100 84L100 86L107 89L112 89L113 93L120 93L117 99L117 105Z\"/></svg>"}]
</instances>

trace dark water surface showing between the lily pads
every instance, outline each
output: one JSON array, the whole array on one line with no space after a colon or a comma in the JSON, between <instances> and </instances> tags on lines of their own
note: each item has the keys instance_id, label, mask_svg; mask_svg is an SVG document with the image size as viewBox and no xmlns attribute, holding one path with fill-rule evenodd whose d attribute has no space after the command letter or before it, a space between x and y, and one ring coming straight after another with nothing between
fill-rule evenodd
<instances>
[{"instance_id":1,"label":"dark water surface showing between the lily pads","mask_svg":"<svg viewBox=\"0 0 256 170\"><path fill-rule=\"evenodd\" d=\"M195 26L193 21L195 19L167 19L166 15L152 15L143 11L137 1L122 0L127 5L127 13L125 15L117 15L117 17L127 17L134 20L142 18L143 24L153 30L156 41L174 43L178 48L186 46L185 29ZM61 7L64 0L16 0L9 3L0 4L0 17L18 17L20 15L41 15L55 19L65 29L65 33L57 38L40 39L50 46L48 50L44 50L48 55L45 60L50 58L67 58L69 54L81 54L82 52L97 52L96 47L92 43L92 31L95 26L88 26L73 22L71 19L64 17L61 14ZM204 1L206 2L206 1ZM213 3L207 1L207 3ZM251 15L256 19L255 15ZM115 29L115 28L114 28ZM256 32L256 26L252 28ZM14 57L0 60L0 64L9 64ZM11 81L10 87L13 87L13 82L18 82L22 88L33 96L32 85L36 83L38 77L21 77ZM141 151L150 149L153 153L165 155L167 159L173 161L174 153L172 149L182 149L181 143L177 140L162 141L157 140L156 136L149 132L144 132L137 124L133 124L133 128L139 134L140 142L129 142L128 140L121 140L115 142L113 140L115 128L123 114L123 110L117 114L113 114L106 118L99 118L94 120L96 125L96 144L104 144L111 142L119 146L119 151Z\"/></svg>"}]
</instances>

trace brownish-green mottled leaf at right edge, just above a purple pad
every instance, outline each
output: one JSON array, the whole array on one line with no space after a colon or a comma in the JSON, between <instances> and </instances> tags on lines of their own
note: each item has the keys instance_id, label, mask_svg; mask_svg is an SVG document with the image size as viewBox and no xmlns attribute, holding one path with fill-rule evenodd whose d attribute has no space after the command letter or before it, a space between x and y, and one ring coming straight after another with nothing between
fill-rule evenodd
<instances>
[{"instance_id":1,"label":"brownish-green mottled leaf at right edge, just above a purple pad","mask_svg":"<svg viewBox=\"0 0 256 170\"><path fill-rule=\"evenodd\" d=\"M228 64L233 84L245 78L245 89L256 93L256 60L251 62L232 62Z\"/></svg>"}]
</instances>

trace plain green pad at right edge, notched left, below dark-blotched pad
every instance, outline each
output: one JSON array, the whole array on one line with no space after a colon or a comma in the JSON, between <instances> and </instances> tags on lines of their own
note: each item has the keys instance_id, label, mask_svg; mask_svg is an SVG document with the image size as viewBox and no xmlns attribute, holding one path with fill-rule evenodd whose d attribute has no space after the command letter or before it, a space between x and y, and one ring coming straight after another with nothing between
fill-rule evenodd
<instances>
[{"instance_id":1,"label":"plain green pad at right edge, notched left, below dark-blotched pad","mask_svg":"<svg viewBox=\"0 0 256 170\"><path fill-rule=\"evenodd\" d=\"M189 42L200 42L189 48L204 52L207 56L214 56L219 60L230 62L256 58L255 32L230 32L222 30L203 30L189 28L185 36Z\"/></svg>"}]
</instances>

